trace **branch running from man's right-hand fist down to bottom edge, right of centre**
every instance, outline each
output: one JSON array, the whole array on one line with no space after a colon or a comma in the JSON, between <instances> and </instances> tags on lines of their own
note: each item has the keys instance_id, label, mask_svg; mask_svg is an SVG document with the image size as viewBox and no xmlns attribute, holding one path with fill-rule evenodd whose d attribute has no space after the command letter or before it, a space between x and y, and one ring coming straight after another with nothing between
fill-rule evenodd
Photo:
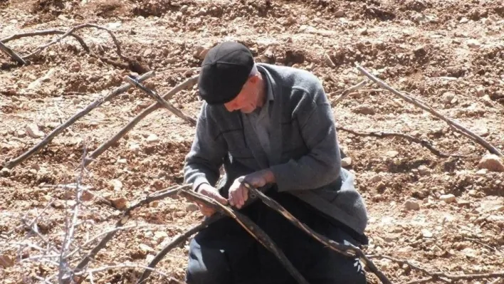
<instances>
[{"instance_id":1,"label":"branch running from man's right-hand fist down to bottom edge, right of centre","mask_svg":"<svg viewBox=\"0 0 504 284\"><path fill-rule=\"evenodd\" d=\"M243 182L243 181L242 181ZM277 211L279 214L285 217L290 223L293 223L296 227L300 228L302 231L308 234L308 236L311 236L312 238L315 238L315 240L319 241L320 243L324 244L325 246L330 247L333 251L336 251L337 253L342 254L343 256L347 256L350 258L359 258L364 265L369 268L369 270L372 271L377 277L379 278L380 281L384 284L392 284L390 280L387 278L387 276L380 271L374 263L367 258L367 256L364 255L364 253L357 248L357 246L352 246L352 245L345 245L342 243L337 243L336 241L331 240L330 238L327 238L324 235L321 235L320 233L317 233L313 231L310 227L306 226L304 223L301 223L298 219L295 218L292 214L290 214L289 211L287 211L283 206L281 206L277 201L269 198L263 192L254 189L252 186L247 184L246 182L243 182L243 184L248 188L248 190L252 193L255 194L255 196L258 196L261 201L263 201L264 204L266 204L268 207L271 209Z\"/></svg>"}]
</instances>

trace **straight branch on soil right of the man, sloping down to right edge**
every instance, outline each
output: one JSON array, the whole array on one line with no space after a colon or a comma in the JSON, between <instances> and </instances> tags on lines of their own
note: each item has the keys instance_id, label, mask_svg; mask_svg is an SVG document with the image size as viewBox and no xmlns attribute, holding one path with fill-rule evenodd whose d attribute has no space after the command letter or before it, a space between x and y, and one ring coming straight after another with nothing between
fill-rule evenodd
<instances>
[{"instance_id":1,"label":"straight branch on soil right of the man, sloping down to right edge","mask_svg":"<svg viewBox=\"0 0 504 284\"><path fill-rule=\"evenodd\" d=\"M451 118L445 117L444 115L441 115L438 111L434 110L431 106L427 105L425 102L422 102L419 99L413 98L410 95L405 95L402 93L399 93L399 91L395 90L394 88L390 87L386 83L384 83L382 80L379 80L376 76L372 75L369 73L369 71L365 70L362 68L358 63L355 63L357 65L357 69L364 75L367 76L367 78L371 79L374 83L377 83L380 85L382 88L385 88L392 92L394 95L398 95L400 98L403 100L406 100L406 102L410 102L413 105L416 105L417 107L420 107L422 110L425 110L426 112L431 113L432 115L439 117L441 120L444 122L448 123L448 125L451 125L454 127L458 132L461 132L463 135L466 135L467 137L471 138L471 140L477 142L478 144L481 144L483 147L488 149L492 154L496 154L499 157L504 157L504 155L497 149L495 148L492 144L484 140L481 136L474 134L470 130L468 130L466 127L463 127L460 125L456 120L452 120Z\"/></svg>"}]
</instances>

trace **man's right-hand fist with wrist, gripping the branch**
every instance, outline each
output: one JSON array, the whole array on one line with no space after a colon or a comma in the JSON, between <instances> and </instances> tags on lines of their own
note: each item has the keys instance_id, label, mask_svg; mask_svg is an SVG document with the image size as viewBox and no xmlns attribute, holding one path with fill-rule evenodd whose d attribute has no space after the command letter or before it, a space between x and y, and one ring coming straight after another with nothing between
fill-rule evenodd
<instances>
[{"instance_id":1,"label":"man's right-hand fist with wrist, gripping the branch","mask_svg":"<svg viewBox=\"0 0 504 284\"><path fill-rule=\"evenodd\" d=\"M241 183L242 179L243 182L250 184L256 189L275 182L275 176L269 169L263 169L235 179L231 187L229 187L229 204L236 206L238 209L241 209L248 199L248 189Z\"/></svg>"}]
</instances>

